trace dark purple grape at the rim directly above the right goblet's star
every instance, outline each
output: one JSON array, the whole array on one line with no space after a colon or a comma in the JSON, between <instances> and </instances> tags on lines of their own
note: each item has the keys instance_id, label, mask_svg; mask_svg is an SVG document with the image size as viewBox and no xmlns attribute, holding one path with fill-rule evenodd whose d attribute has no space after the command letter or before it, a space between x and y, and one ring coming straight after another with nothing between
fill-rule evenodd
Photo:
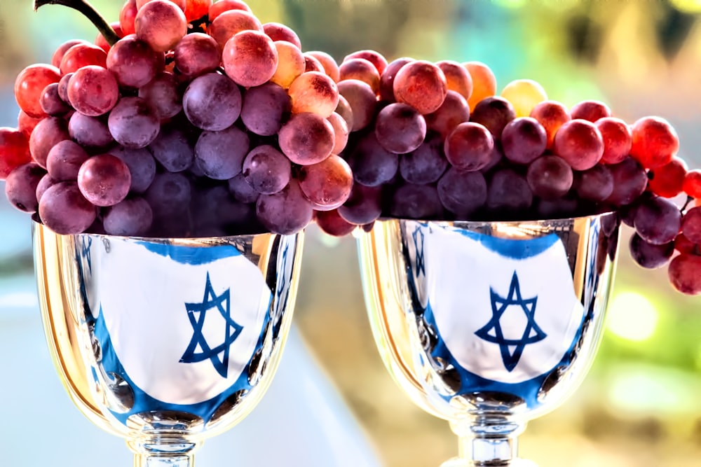
<instances>
[{"instance_id":1,"label":"dark purple grape at the rim directly above the right goblet's star","mask_svg":"<svg viewBox=\"0 0 701 467\"><path fill-rule=\"evenodd\" d=\"M486 207L493 215L519 216L533 203L533 192L526 179L512 169L501 169L491 176Z\"/></svg>"}]
</instances>

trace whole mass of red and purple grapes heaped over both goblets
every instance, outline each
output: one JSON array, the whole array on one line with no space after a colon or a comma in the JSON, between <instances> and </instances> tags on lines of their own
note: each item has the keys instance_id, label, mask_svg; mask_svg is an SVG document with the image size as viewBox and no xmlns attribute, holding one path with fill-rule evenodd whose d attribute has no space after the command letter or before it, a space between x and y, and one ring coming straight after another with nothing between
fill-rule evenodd
<instances>
[{"instance_id":1,"label":"whole mass of red and purple grapes heaped over both goblets","mask_svg":"<svg viewBox=\"0 0 701 467\"><path fill-rule=\"evenodd\" d=\"M481 62L336 62L242 0L127 0L111 29L24 69L18 127L0 128L8 200L55 232L342 236L615 210L639 265L701 293L701 172L662 118L568 108L526 79L497 94Z\"/></svg>"}]
</instances>

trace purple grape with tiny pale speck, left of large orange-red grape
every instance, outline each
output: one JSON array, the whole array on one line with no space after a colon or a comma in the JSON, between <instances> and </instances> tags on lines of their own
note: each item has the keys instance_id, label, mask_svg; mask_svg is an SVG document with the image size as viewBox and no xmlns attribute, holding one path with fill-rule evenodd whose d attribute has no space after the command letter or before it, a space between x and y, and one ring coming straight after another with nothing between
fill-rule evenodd
<instances>
[{"instance_id":1,"label":"purple grape with tiny pale speck, left of large orange-red grape","mask_svg":"<svg viewBox=\"0 0 701 467\"><path fill-rule=\"evenodd\" d=\"M243 176L257 193L272 195L290 183L292 165L283 153L269 144L256 146L243 160Z\"/></svg>"}]
</instances>

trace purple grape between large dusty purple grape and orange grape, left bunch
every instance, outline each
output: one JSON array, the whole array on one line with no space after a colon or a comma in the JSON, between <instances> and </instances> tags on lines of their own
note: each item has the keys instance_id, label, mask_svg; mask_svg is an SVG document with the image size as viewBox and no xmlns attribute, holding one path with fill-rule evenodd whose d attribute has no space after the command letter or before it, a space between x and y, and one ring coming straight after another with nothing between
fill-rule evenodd
<instances>
[{"instance_id":1,"label":"purple grape between large dusty purple grape and orange grape, left bunch","mask_svg":"<svg viewBox=\"0 0 701 467\"><path fill-rule=\"evenodd\" d=\"M275 83L249 88L243 93L241 120L248 131L272 136L280 131L292 109L290 96Z\"/></svg>"}]
</instances>

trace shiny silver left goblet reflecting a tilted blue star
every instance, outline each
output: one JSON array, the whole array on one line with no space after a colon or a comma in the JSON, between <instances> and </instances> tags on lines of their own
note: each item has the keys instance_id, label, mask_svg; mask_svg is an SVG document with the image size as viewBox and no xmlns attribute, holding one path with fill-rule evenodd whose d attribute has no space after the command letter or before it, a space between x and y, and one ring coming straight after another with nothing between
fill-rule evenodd
<instances>
[{"instance_id":1,"label":"shiny silver left goblet reflecting a tilted blue star","mask_svg":"<svg viewBox=\"0 0 701 467\"><path fill-rule=\"evenodd\" d=\"M205 438L257 405L290 329L303 235L57 235L34 223L55 367L135 467L193 466Z\"/></svg>"}]
</instances>

